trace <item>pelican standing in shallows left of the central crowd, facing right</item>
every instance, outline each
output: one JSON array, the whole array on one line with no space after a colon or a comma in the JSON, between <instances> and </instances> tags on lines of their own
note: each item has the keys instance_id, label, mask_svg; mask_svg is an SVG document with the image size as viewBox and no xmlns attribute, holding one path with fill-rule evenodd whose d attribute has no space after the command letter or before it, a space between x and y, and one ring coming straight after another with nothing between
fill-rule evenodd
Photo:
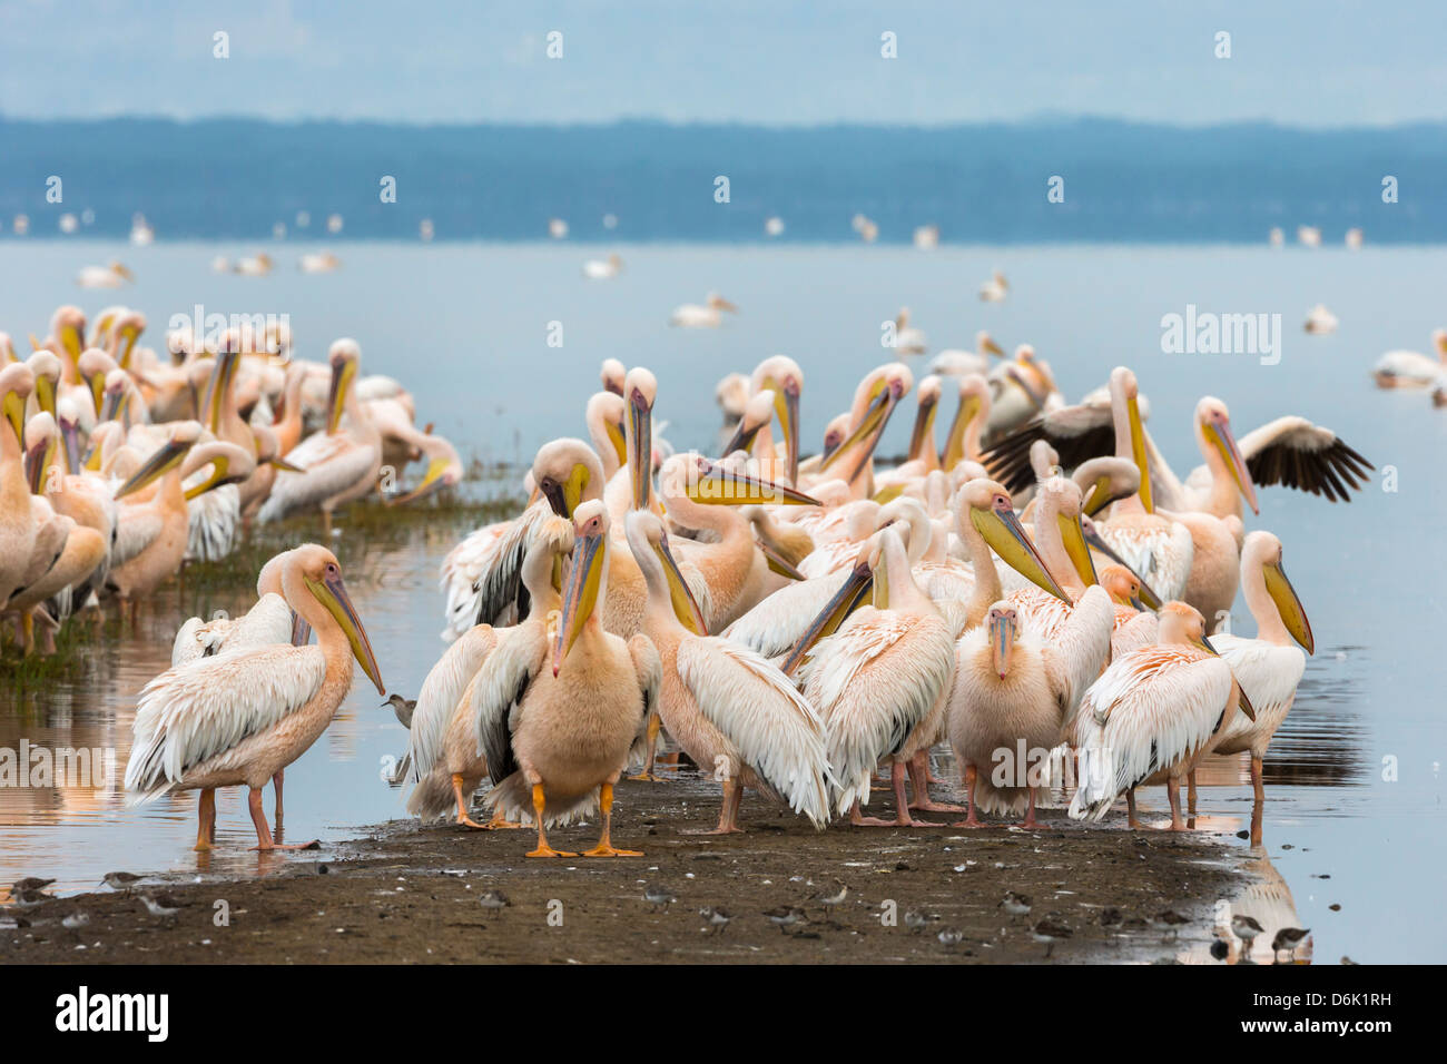
<instances>
[{"instance_id":1,"label":"pelican standing in shallows left of the central crowd, facing right","mask_svg":"<svg viewBox=\"0 0 1447 1064\"><path fill-rule=\"evenodd\" d=\"M336 556L314 543L297 547L281 583L315 646L240 649L172 667L140 692L126 790L133 803L200 790L198 850L214 841L216 788L242 785L250 789L256 848L301 848L272 840L262 788L327 730L352 689L353 657L378 692L386 691Z\"/></svg>"}]
</instances>

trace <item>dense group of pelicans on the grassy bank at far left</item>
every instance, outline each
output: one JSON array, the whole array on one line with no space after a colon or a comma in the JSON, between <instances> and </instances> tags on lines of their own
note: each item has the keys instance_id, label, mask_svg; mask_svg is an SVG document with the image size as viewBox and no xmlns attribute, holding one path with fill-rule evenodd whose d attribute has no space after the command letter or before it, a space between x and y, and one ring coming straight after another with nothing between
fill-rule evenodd
<instances>
[{"instance_id":1,"label":"dense group of pelicans on the grassy bank at far left","mask_svg":"<svg viewBox=\"0 0 1447 1064\"><path fill-rule=\"evenodd\" d=\"M463 476L447 440L414 424L394 379L359 376L355 340L298 358L285 324L139 343L143 314L109 307L87 332L61 307L20 359L0 333L0 615L23 653L114 596L140 604L188 560L226 557L250 523L323 514L427 462L410 501ZM392 476L381 476L391 468Z\"/></svg>"}]
</instances>

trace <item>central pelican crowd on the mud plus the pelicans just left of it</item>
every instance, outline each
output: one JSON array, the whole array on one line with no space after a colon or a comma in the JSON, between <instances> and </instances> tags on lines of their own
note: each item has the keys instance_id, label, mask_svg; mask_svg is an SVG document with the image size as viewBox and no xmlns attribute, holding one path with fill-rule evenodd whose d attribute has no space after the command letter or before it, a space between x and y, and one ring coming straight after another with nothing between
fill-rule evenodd
<instances>
[{"instance_id":1,"label":"central pelican crowd on the mud plus the pelicans just left of it","mask_svg":"<svg viewBox=\"0 0 1447 1064\"><path fill-rule=\"evenodd\" d=\"M965 369L917 387L903 363L873 369L806 457L803 373L768 358L742 388L721 382L721 401L744 397L724 404L738 420L710 459L658 446L654 375L609 359L589 439L544 444L522 512L443 565L450 646L414 706L392 699L410 727L408 809L531 822L531 857L573 856L547 829L596 814L586 856L629 856L611 838L614 788L629 767L657 779L661 735L721 785L721 834L741 829L748 789L818 828L955 811L964 827L983 814L1030 827L1066 774L1072 818L1124 796L1136 825L1136 788L1165 783L1181 829L1179 785L1211 753L1249 751L1259 803L1314 641L1281 540L1246 533L1243 504L1256 512L1268 485L1346 499L1372 466L1295 415L1237 439L1207 397L1189 426L1204 465L1182 479L1130 369L1077 405L1030 350ZM946 391L958 407L941 450ZM910 392L910 453L877 473ZM1255 638L1213 631L1237 586ZM188 622L136 714L126 786L201 790L200 847L214 788L236 785L259 845L275 845L262 789L276 782L279 811L281 772L346 698L353 657L385 692L328 550L279 554L258 592L245 617ZM941 743L964 808L930 796ZM875 819L880 769L894 814Z\"/></svg>"}]
</instances>

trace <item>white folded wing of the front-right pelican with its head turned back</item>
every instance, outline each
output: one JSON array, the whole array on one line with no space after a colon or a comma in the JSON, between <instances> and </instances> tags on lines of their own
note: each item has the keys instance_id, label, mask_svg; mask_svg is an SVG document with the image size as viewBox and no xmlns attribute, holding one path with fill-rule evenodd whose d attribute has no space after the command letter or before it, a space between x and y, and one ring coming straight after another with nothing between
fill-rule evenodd
<instances>
[{"instance_id":1,"label":"white folded wing of the front-right pelican with its head turned back","mask_svg":"<svg viewBox=\"0 0 1447 1064\"><path fill-rule=\"evenodd\" d=\"M1075 718L1071 818L1101 819L1117 795L1205 746L1230 692L1230 666L1204 651L1152 646L1119 657L1085 691Z\"/></svg>"}]
</instances>

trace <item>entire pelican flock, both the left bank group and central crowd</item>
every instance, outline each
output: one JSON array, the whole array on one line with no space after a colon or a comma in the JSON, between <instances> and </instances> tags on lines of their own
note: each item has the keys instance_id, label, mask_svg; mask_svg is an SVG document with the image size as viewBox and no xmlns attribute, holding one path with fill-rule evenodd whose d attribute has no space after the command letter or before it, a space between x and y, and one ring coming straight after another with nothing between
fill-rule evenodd
<instances>
[{"instance_id":1,"label":"entire pelican flock, both the left bank group and central crowd","mask_svg":"<svg viewBox=\"0 0 1447 1064\"><path fill-rule=\"evenodd\" d=\"M1004 292L997 275L983 295ZM671 321L718 327L734 310L710 295ZM178 330L161 356L143 333L126 307L61 307L27 358L0 343L0 611L26 653L110 601L133 621L255 527L295 521L298 541L330 543L373 494L411 504L464 479L405 387L363 375L357 340L308 360L289 329ZM907 310L896 339L899 358L926 350ZM1430 369L1388 358L1378 379ZM608 359L577 410L583 434L538 447L518 512L447 553L446 646L415 705L389 699L408 705L410 812L528 825L537 858L577 856L548 832L587 819L598 841L582 856L624 858L640 851L628 821L615 843L615 793L684 763L718 783L718 809L690 825L710 834L747 831L751 802L818 829L913 829L1035 828L1052 802L1098 821L1123 801L1136 827L1136 792L1156 783L1182 829L1179 786L1194 812L1210 754L1249 757L1265 799L1262 763L1314 638L1282 541L1247 524L1270 486L1360 489L1372 466L1336 433L1283 414L1237 436L1226 402L1201 397L1176 426L1201 465L1181 475L1130 368L1072 405L1030 345L1006 356L984 330L919 376L904 360L868 368L819 450L789 356L737 368L715 397L718 453L674 452L660 417L676 397ZM909 453L886 468L901 407ZM256 591L245 615L182 624L139 695L127 792L198 792L198 848L229 786L247 788L258 847L279 845L268 782L279 821L285 770L353 666L386 691L388 650L328 546L278 553ZM1249 638L1229 631L1239 591ZM936 751L964 805L932 795Z\"/></svg>"}]
</instances>

